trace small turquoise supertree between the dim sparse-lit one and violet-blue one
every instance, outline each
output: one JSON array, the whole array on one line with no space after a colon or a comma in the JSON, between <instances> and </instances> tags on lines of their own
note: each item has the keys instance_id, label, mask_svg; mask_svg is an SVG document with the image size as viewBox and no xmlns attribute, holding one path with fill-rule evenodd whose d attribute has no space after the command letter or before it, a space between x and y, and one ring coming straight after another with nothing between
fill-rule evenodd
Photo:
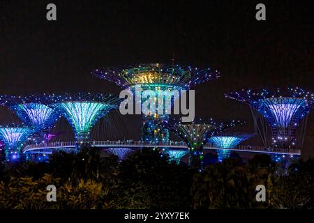
<instances>
[{"instance_id":1,"label":"small turquoise supertree between the dim sparse-lit one and violet-blue one","mask_svg":"<svg viewBox=\"0 0 314 223\"><path fill-rule=\"evenodd\" d=\"M218 162L230 156L230 148L241 144L242 141L253 137L255 134L243 132L221 132L209 138L209 143L217 147Z\"/></svg>"}]
</instances>

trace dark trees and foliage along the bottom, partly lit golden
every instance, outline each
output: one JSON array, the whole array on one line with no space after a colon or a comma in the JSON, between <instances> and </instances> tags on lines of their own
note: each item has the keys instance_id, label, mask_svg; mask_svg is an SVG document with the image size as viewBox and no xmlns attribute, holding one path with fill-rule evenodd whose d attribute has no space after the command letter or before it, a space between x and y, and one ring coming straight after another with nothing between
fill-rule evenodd
<instances>
[{"instance_id":1,"label":"dark trees and foliage along the bottom, partly lit golden","mask_svg":"<svg viewBox=\"0 0 314 223\"><path fill-rule=\"evenodd\" d=\"M77 154L56 153L49 163L0 165L0 208L314 208L314 160L274 173L268 155L246 164L234 156L194 172L184 164L143 149L118 162L84 148ZM47 185L57 187L57 202L47 202ZM267 201L255 199L265 185Z\"/></svg>"}]
</instances>

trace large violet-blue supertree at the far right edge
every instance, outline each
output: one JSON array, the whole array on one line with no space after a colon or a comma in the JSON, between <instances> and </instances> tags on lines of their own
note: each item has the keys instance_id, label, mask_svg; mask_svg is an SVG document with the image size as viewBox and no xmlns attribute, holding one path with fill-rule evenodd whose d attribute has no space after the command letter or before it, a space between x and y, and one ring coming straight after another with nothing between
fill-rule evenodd
<instances>
[{"instance_id":1,"label":"large violet-blue supertree at the far right edge","mask_svg":"<svg viewBox=\"0 0 314 223\"><path fill-rule=\"evenodd\" d=\"M271 126L273 146L281 148L295 146L296 130L300 121L307 116L314 105L313 93L299 88L275 91L242 90L225 96L245 102L253 110L262 114Z\"/></svg>"}]
</instances>

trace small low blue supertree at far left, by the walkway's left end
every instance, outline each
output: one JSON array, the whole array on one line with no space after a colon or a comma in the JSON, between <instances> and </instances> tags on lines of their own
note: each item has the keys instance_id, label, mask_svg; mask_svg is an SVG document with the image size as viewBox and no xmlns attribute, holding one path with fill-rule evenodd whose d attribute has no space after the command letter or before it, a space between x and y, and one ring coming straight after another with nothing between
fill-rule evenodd
<instances>
[{"instance_id":1,"label":"small low blue supertree at far left, by the walkway's left end","mask_svg":"<svg viewBox=\"0 0 314 223\"><path fill-rule=\"evenodd\" d=\"M20 151L33 129L22 124L0 125L0 138L4 143L6 159L15 161L20 158Z\"/></svg>"}]
</instances>

